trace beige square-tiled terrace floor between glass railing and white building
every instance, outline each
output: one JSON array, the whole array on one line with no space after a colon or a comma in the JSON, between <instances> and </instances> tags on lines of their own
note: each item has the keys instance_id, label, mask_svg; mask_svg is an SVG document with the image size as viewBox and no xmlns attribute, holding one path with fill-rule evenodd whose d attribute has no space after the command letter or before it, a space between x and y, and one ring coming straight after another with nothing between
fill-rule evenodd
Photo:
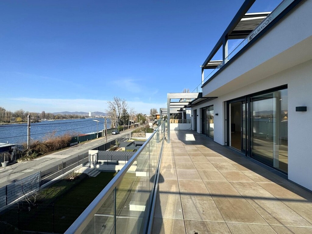
<instances>
[{"instance_id":1,"label":"beige square-tiled terrace floor between glass railing and white building","mask_svg":"<svg viewBox=\"0 0 312 234\"><path fill-rule=\"evenodd\" d=\"M194 131L165 144L153 234L312 233L312 194Z\"/></svg>"}]
</instances>

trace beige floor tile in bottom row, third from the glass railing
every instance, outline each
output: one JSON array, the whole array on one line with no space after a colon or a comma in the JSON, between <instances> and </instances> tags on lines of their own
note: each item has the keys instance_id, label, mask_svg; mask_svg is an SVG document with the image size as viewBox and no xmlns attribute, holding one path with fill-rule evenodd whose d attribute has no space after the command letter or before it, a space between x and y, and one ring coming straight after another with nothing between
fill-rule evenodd
<instances>
[{"instance_id":1,"label":"beige floor tile in bottom row, third from the glass railing","mask_svg":"<svg viewBox=\"0 0 312 234\"><path fill-rule=\"evenodd\" d=\"M227 223L232 234L276 234L270 225L249 223Z\"/></svg>"}]
</instances>

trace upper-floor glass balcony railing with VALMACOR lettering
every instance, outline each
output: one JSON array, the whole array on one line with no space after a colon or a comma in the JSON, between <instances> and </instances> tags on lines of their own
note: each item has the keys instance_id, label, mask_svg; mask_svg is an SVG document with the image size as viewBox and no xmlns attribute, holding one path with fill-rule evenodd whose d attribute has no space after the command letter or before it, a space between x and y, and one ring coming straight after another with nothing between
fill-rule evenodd
<instances>
[{"instance_id":1,"label":"upper-floor glass balcony railing with VALMACOR lettering","mask_svg":"<svg viewBox=\"0 0 312 234\"><path fill-rule=\"evenodd\" d=\"M294 0L284 0L282 1L260 24L256 27L241 43L236 46L236 48L222 61L222 63L217 66L209 75L193 90L193 93L202 92L202 85L209 80L220 68L232 59L238 51L240 51L244 46L248 44L259 32L262 31L268 24L272 22L281 12L283 12Z\"/></svg>"}]
</instances>

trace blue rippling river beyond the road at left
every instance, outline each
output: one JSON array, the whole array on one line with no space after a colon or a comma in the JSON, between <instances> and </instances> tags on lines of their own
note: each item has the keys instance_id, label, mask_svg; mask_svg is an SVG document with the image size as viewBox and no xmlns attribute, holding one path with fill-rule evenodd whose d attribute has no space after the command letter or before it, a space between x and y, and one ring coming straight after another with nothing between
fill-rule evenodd
<instances>
[{"instance_id":1,"label":"blue rippling river beyond the road at left","mask_svg":"<svg viewBox=\"0 0 312 234\"><path fill-rule=\"evenodd\" d=\"M96 122L93 120L98 120ZM104 118L88 119L64 119L54 121L42 121L30 124L30 136L32 140L42 140L51 134L63 135L67 132L85 134L104 129ZM110 128L110 119L107 119L107 128ZM0 125L0 143L22 144L27 142L27 123Z\"/></svg>"}]
</instances>

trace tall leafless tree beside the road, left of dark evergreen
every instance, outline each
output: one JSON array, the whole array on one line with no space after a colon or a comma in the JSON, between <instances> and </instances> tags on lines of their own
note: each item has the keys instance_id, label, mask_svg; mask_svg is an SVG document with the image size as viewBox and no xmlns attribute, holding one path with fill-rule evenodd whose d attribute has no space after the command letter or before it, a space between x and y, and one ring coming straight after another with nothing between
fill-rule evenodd
<instances>
[{"instance_id":1,"label":"tall leafless tree beside the road, left of dark evergreen","mask_svg":"<svg viewBox=\"0 0 312 234\"><path fill-rule=\"evenodd\" d=\"M116 128L120 121L120 116L123 110L128 110L128 103L125 99L113 97L112 101L107 101L106 112L112 122L111 127Z\"/></svg>"}]
</instances>

